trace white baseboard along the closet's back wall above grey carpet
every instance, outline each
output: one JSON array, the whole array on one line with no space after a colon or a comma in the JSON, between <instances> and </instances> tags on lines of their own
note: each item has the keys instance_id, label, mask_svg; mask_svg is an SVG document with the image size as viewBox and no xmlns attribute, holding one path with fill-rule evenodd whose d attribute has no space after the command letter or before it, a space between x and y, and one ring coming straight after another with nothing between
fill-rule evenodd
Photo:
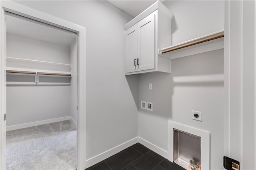
<instances>
[{"instance_id":1,"label":"white baseboard along the closet's back wall above grey carpet","mask_svg":"<svg viewBox=\"0 0 256 170\"><path fill-rule=\"evenodd\" d=\"M20 128L27 128L27 127L34 127L34 126L38 126L38 125L66 121L66 120L70 120L70 119L71 119L70 116L65 116L65 117L58 117L58 118L54 118L54 119L47 119L47 120L43 120L43 121L36 121L36 122L30 122L30 123L23 123L23 124L19 124L19 125L12 125L12 126L7 126L6 131L16 130L16 129L20 129Z\"/></svg>"}]
</instances>

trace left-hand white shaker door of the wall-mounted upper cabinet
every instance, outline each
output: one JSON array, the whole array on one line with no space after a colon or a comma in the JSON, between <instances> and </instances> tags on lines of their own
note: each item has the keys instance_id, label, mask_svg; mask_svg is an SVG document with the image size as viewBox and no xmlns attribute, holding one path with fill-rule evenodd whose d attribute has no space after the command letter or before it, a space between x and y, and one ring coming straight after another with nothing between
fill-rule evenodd
<instances>
[{"instance_id":1,"label":"left-hand white shaker door of the wall-mounted upper cabinet","mask_svg":"<svg viewBox=\"0 0 256 170\"><path fill-rule=\"evenodd\" d=\"M138 30L137 24L125 33L125 72L136 71L138 58ZM136 60L136 61L134 61Z\"/></svg>"}]
</instances>

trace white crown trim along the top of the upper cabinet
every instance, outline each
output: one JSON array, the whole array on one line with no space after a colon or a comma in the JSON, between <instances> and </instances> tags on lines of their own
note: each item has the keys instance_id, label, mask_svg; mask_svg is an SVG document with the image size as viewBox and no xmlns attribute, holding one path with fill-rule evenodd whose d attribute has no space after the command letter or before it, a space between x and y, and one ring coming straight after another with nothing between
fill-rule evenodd
<instances>
[{"instance_id":1,"label":"white crown trim along the top of the upper cabinet","mask_svg":"<svg viewBox=\"0 0 256 170\"><path fill-rule=\"evenodd\" d=\"M148 7L146 10L144 10L142 13L140 13L138 16L136 16L134 19L132 19L130 22L128 22L124 26L124 30L126 31L128 28L132 27L134 24L138 23L140 20L142 20L143 18L145 18L155 10L161 10L164 14L166 14L166 16L170 18L170 20L174 16L174 14L170 12L170 10L166 6L164 6L162 2L158 0L154 4L152 4L150 7Z\"/></svg>"}]
</instances>

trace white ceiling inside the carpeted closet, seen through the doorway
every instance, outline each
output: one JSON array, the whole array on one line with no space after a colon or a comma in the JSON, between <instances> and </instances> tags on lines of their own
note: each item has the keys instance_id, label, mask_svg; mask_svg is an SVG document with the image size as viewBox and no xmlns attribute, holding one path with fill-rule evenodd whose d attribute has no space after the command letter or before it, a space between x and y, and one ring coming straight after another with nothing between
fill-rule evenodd
<instances>
[{"instance_id":1,"label":"white ceiling inside the carpeted closet, seen through the doorway","mask_svg":"<svg viewBox=\"0 0 256 170\"><path fill-rule=\"evenodd\" d=\"M76 40L74 33L10 15L6 15L6 29L11 34L66 46L70 46Z\"/></svg>"}]
</instances>

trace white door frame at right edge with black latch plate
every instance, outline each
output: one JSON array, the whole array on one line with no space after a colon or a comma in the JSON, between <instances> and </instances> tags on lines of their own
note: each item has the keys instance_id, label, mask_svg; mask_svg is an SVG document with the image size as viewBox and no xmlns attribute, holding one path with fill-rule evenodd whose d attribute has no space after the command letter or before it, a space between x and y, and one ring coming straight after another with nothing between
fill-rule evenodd
<instances>
[{"instance_id":1,"label":"white door frame at right edge with black latch plate","mask_svg":"<svg viewBox=\"0 0 256 170\"><path fill-rule=\"evenodd\" d=\"M225 1L224 156L255 169L256 3Z\"/></svg>"}]
</instances>

